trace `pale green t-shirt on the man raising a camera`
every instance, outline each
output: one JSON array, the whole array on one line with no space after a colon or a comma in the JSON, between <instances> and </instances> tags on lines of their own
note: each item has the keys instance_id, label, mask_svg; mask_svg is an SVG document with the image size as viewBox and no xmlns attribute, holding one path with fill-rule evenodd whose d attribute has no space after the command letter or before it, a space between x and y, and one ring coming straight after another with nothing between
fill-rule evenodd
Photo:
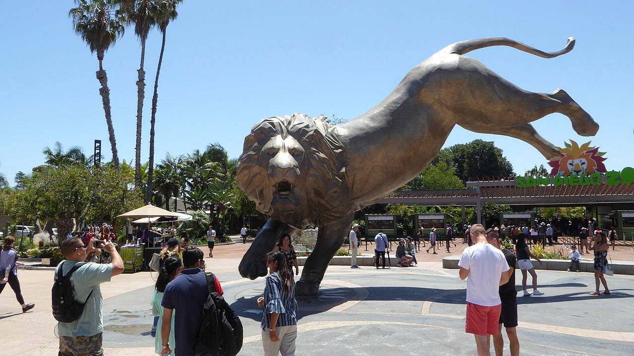
<instances>
[{"instance_id":1,"label":"pale green t-shirt on the man raising a camera","mask_svg":"<svg viewBox=\"0 0 634 356\"><path fill-rule=\"evenodd\" d=\"M62 274L79 262L63 260L57 265L55 274L60 268ZM112 264L95 264L87 262L70 277L74 287L74 296L77 302L84 303L84 312L81 317L73 322L58 322L57 327L60 336L93 336L103 333L103 296L99 284L110 282L112 277ZM90 294L93 291L93 294ZM88 298L86 300L86 298Z\"/></svg>"}]
</instances>

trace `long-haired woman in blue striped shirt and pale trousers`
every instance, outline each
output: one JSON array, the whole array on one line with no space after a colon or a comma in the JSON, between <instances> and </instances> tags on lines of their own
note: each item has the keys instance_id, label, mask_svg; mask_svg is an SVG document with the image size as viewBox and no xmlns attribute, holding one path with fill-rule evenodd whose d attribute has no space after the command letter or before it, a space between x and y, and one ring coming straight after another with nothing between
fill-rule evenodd
<instances>
[{"instance_id":1,"label":"long-haired woman in blue striped shirt and pale trousers","mask_svg":"<svg viewBox=\"0 0 634 356\"><path fill-rule=\"evenodd\" d=\"M264 356L295 355L297 339L297 301L295 279L287 268L281 251L267 255L269 275L266 276L264 296L257 298L257 305L264 307L262 316L262 346Z\"/></svg>"}]
</instances>

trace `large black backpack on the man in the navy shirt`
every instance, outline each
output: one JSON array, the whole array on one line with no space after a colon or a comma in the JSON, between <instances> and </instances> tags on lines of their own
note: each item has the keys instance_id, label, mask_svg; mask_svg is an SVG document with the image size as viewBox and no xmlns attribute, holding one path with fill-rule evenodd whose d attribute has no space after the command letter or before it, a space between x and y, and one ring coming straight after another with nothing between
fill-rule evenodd
<instances>
[{"instance_id":1,"label":"large black backpack on the man in the navy shirt","mask_svg":"<svg viewBox=\"0 0 634 356\"><path fill-rule=\"evenodd\" d=\"M214 356L235 356L242 348L242 322L223 296L216 293L215 276L210 273L205 276L209 296L198 329L196 350Z\"/></svg>"}]
</instances>

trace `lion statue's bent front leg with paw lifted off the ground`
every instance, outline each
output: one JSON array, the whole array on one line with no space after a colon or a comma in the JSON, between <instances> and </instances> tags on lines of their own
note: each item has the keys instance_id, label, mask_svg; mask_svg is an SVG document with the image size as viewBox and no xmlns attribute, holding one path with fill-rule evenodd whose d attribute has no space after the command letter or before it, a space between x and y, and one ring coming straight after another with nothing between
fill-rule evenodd
<instances>
[{"instance_id":1,"label":"lion statue's bent front leg with paw lifted off the ground","mask_svg":"<svg viewBox=\"0 0 634 356\"><path fill-rule=\"evenodd\" d=\"M290 234L293 230L295 229L285 222L269 219L257 234L247 253L242 257L238 266L240 276L249 279L266 276L268 272L266 270L266 254L273 251L281 234Z\"/></svg>"}]
</instances>

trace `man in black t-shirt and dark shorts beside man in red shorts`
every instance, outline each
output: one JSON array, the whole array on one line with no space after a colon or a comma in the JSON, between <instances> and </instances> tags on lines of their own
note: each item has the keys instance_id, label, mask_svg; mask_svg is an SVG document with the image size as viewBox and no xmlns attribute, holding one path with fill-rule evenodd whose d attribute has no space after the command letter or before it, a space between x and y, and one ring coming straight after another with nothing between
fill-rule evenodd
<instances>
[{"instance_id":1,"label":"man in black t-shirt and dark shorts beside man in red shorts","mask_svg":"<svg viewBox=\"0 0 634 356\"><path fill-rule=\"evenodd\" d=\"M515 253L500 246L500 236L498 233L489 229L486 234L487 241L500 248L504 257L507 259L508 268L512 271L508 282L500 286L500 300L502 302L502 308L500 312L500 324L498 324L498 334L493 335L493 348L495 348L495 355L502 355L504 349L504 339L502 338L502 325L504 325L510 351L512 356L519 356L519 340L517 340L517 291L515 290L515 265L517 264L517 258Z\"/></svg>"}]
</instances>

